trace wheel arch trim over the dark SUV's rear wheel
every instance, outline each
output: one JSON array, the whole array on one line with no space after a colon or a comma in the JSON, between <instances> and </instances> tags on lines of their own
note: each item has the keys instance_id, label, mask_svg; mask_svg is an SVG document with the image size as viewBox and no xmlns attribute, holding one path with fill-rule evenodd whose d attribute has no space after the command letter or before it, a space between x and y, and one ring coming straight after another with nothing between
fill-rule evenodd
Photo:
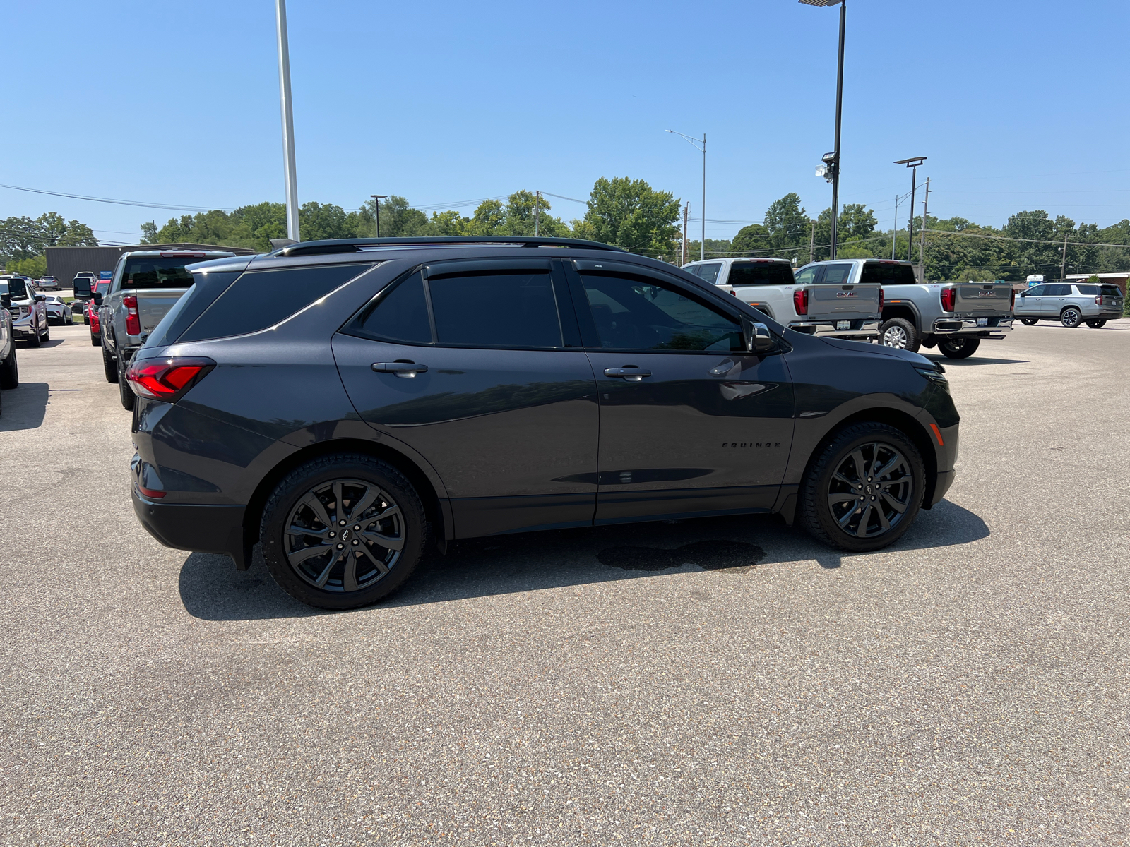
<instances>
[{"instance_id":1,"label":"wheel arch trim over the dark SUV's rear wheel","mask_svg":"<svg viewBox=\"0 0 1130 847\"><path fill-rule=\"evenodd\" d=\"M246 561L251 560L251 548L259 541L259 523L263 515L263 506L279 480L298 465L333 453L363 453L388 462L405 474L419 494L428 522L436 530L435 539L441 552L446 551L446 542L452 536L453 530L446 499L441 499L432 480L428 479L428 474L416 462L385 444L376 444L363 438L332 438L295 451L271 468L259 481L243 514L243 543Z\"/></svg>"}]
</instances>

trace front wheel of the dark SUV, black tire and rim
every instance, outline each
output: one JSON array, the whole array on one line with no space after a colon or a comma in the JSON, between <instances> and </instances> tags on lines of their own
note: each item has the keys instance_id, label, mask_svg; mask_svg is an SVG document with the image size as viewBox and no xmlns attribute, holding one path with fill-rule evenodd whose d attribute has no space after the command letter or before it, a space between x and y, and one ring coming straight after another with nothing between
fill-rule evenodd
<instances>
[{"instance_id":1,"label":"front wheel of the dark SUV, black tire and rim","mask_svg":"<svg viewBox=\"0 0 1130 847\"><path fill-rule=\"evenodd\" d=\"M876 461L886 472L873 475L889 479L866 472L876 470ZM798 517L812 538L829 547L880 550L914 523L924 487L922 457L905 433L873 421L853 424L836 433L809 465L800 486Z\"/></svg>"}]
</instances>

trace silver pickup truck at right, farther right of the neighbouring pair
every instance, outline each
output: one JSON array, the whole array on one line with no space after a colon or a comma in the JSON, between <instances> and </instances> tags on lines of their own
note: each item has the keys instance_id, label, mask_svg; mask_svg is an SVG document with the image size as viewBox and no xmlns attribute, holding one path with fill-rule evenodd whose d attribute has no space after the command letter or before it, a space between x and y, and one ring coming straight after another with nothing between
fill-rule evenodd
<instances>
[{"instance_id":1,"label":"silver pickup truck at right, farther right of the neighbouring pair","mask_svg":"<svg viewBox=\"0 0 1130 847\"><path fill-rule=\"evenodd\" d=\"M949 359L976 352L982 339L1002 339L1012 331L1012 286L1008 282L923 282L910 262L892 259L837 259L818 265L850 265L852 282L883 286L879 343L918 352L937 347Z\"/></svg>"}]
</instances>

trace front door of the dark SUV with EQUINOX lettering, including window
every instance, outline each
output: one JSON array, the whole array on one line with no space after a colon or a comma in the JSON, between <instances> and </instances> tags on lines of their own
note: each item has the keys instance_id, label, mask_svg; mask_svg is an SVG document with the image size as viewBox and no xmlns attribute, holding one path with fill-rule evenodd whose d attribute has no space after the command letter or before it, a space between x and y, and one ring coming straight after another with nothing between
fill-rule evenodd
<instances>
[{"instance_id":1,"label":"front door of the dark SUV with EQUINOX lettering, including window","mask_svg":"<svg viewBox=\"0 0 1130 847\"><path fill-rule=\"evenodd\" d=\"M773 506L792 442L783 357L681 282L608 261L568 268L600 396L597 523Z\"/></svg>"}]
</instances>

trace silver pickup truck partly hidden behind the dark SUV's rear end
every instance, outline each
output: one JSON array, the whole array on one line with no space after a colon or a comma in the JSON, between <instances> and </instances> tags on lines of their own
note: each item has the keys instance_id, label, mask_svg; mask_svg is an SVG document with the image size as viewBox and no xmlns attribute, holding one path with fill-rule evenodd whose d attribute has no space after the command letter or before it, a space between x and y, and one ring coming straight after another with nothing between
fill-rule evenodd
<instances>
[{"instance_id":1,"label":"silver pickup truck partly hidden behind the dark SUV's rear end","mask_svg":"<svg viewBox=\"0 0 1130 847\"><path fill-rule=\"evenodd\" d=\"M106 381L118 383L118 396L124 409L133 408L133 392L119 375L125 373L146 337L192 285L192 274L184 270L185 265L232 255L235 254L226 250L123 253L114 268L108 294L98 283L94 303L101 306L102 365Z\"/></svg>"}]
</instances>

